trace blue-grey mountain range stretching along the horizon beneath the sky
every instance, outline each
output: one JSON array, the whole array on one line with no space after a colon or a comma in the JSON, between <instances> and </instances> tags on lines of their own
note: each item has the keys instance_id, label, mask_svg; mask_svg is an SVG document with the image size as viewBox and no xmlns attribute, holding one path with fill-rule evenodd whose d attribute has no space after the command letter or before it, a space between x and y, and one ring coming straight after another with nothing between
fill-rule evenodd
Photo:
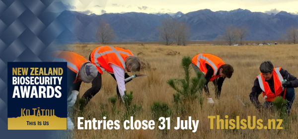
<instances>
[{"instance_id":1,"label":"blue-grey mountain range stretching along the horizon beneath the sky","mask_svg":"<svg viewBox=\"0 0 298 139\"><path fill-rule=\"evenodd\" d=\"M97 42L96 31L104 19L117 36L115 42L160 41L156 28L164 18L185 22L191 30L190 41L212 41L224 33L226 26L246 26L249 32L246 40L279 40L288 27L298 26L298 15L286 11L267 14L247 9L215 12L202 9L185 14L127 12L86 15L65 10L59 13L58 19L67 29L58 36L58 40L61 43Z\"/></svg>"}]
</instances>

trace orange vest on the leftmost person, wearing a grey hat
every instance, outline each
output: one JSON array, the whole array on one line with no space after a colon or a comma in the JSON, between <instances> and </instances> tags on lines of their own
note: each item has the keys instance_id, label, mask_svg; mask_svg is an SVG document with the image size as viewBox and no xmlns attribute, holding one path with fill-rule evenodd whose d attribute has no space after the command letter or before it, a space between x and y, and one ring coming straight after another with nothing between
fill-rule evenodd
<instances>
[{"instance_id":1,"label":"orange vest on the leftmost person, wearing a grey hat","mask_svg":"<svg viewBox=\"0 0 298 139\"><path fill-rule=\"evenodd\" d=\"M47 56L47 60L49 62L67 62L67 68L73 70L76 73L76 77L81 66L86 62L89 63L89 61L86 60L83 56L71 51L50 52Z\"/></svg>"}]
</instances>

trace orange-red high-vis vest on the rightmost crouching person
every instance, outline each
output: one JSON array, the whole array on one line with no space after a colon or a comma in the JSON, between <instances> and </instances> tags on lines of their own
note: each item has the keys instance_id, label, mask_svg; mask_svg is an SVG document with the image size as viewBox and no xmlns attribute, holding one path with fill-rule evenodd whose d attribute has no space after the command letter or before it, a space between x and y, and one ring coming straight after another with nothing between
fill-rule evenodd
<instances>
[{"instance_id":1,"label":"orange-red high-vis vest on the rightmost crouching person","mask_svg":"<svg viewBox=\"0 0 298 139\"><path fill-rule=\"evenodd\" d=\"M263 77L262 73L260 73L257 78L259 80L259 84L260 84L260 87L263 91L263 97L265 95L267 95L267 98L265 99L266 101L274 101L275 98L277 96L280 96L283 92L283 86L282 86L282 80L283 80L283 76L282 74L280 73L280 70L282 68L274 68L273 70L273 81L274 81L274 90L275 90L275 93L273 93L271 90L270 90L270 87L269 87L269 84L267 81L265 81L265 78Z\"/></svg>"}]
</instances>

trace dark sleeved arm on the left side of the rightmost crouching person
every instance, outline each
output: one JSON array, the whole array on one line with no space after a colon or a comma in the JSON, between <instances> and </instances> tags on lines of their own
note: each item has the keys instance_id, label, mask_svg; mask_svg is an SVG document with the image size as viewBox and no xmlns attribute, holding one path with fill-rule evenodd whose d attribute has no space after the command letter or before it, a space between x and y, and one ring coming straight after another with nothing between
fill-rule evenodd
<instances>
[{"instance_id":1,"label":"dark sleeved arm on the left side of the rightmost crouching person","mask_svg":"<svg viewBox=\"0 0 298 139\"><path fill-rule=\"evenodd\" d=\"M261 93L262 89L260 87L258 78L256 78L253 83L253 87L251 88L251 93L249 94L249 99L256 108L259 108L260 106L260 101L258 97Z\"/></svg>"}]
</instances>

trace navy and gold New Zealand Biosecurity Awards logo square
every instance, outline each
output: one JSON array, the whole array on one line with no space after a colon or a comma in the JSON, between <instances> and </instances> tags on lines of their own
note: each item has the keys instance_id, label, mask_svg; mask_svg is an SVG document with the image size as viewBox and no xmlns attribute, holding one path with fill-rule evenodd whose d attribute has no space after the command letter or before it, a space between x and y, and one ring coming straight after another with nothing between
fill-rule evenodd
<instances>
[{"instance_id":1,"label":"navy and gold New Zealand Biosecurity Awards logo square","mask_svg":"<svg viewBox=\"0 0 298 139\"><path fill-rule=\"evenodd\" d=\"M67 130L67 63L9 62L8 130Z\"/></svg>"}]
</instances>

